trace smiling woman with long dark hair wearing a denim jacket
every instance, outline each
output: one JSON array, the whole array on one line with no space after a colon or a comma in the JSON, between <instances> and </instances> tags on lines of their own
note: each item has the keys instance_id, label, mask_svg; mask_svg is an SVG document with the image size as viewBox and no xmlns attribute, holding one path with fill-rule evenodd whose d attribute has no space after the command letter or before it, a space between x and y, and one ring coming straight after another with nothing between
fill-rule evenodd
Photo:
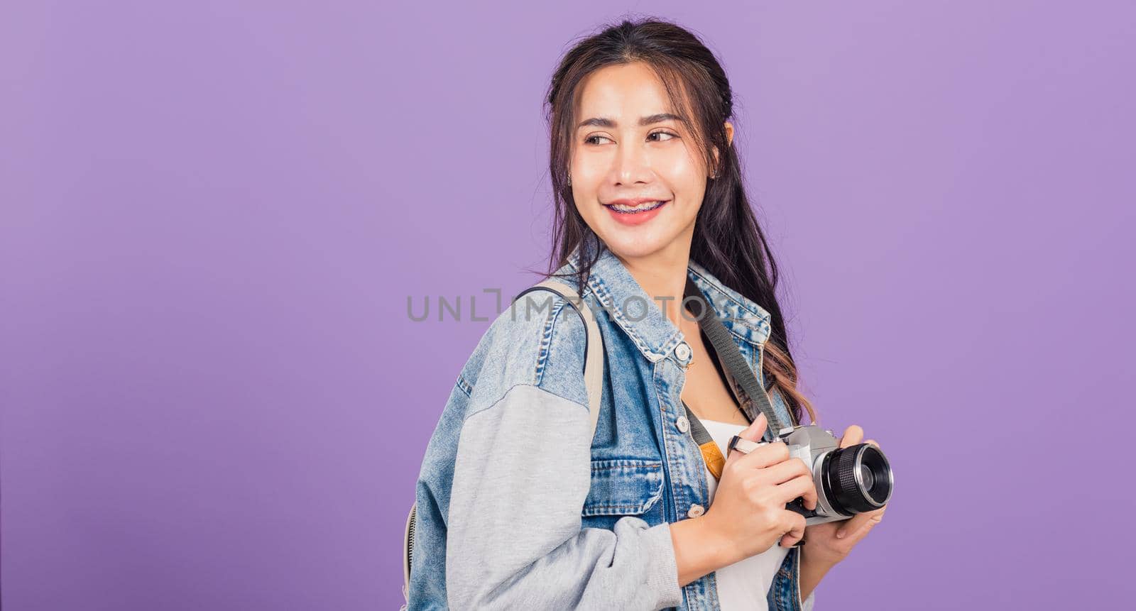
<instances>
[{"instance_id":1,"label":"smiling woman with long dark hair wearing a denim jacket","mask_svg":"<svg viewBox=\"0 0 1136 611\"><path fill-rule=\"evenodd\" d=\"M736 337L783 421L812 415L726 75L687 31L624 22L563 57L548 103L552 276L596 313L599 422L593 438L583 323L527 293L478 343L431 438L410 609L811 608L884 510L805 527L785 504L811 509L816 491L785 444L721 460L734 434L772 436L684 296ZM861 441L852 426L841 445Z\"/></svg>"}]
</instances>

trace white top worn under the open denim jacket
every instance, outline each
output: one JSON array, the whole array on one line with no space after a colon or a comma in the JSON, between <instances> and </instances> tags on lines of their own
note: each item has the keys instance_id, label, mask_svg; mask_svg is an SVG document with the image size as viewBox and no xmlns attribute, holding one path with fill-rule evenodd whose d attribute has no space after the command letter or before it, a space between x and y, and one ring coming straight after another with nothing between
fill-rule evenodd
<instances>
[{"instance_id":1,"label":"white top worn under the open denim jacket","mask_svg":"<svg viewBox=\"0 0 1136 611\"><path fill-rule=\"evenodd\" d=\"M700 421L710 437L718 444L724 457L729 438L746 429L745 425L733 422L701 419ZM713 504L713 493L718 489L718 482L709 471L707 471L707 484L710 487L710 503ZM780 568L786 555L788 555L788 549L774 542L772 546L758 555L751 555L745 560L718 569L718 600L721 609L724 611L753 609L768 611L766 595L769 593L774 576L777 575L777 569Z\"/></svg>"}]
</instances>

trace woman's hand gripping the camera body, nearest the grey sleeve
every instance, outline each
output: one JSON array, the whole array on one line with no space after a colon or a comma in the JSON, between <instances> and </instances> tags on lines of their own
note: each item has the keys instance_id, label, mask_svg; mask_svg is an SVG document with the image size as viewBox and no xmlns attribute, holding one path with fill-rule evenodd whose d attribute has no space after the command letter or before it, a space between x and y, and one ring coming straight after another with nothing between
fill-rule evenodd
<instances>
[{"instance_id":1,"label":"woman's hand gripping the camera body, nearest the grey sleeve","mask_svg":"<svg viewBox=\"0 0 1136 611\"><path fill-rule=\"evenodd\" d=\"M740 436L759 442L765 430L762 413ZM726 457L704 526L724 537L720 541L733 543L733 562L765 552L778 539L787 547L804 536L804 516L785 509L799 496L807 509L816 509L812 471L803 460L790 459L785 442L762 445L749 454L734 450Z\"/></svg>"}]
</instances>

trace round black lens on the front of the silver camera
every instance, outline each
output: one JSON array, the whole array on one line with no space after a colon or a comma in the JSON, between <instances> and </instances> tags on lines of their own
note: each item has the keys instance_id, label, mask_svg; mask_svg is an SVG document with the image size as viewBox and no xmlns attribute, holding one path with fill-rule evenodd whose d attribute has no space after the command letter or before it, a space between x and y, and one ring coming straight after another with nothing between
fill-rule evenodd
<instances>
[{"instance_id":1,"label":"round black lens on the front of the silver camera","mask_svg":"<svg viewBox=\"0 0 1136 611\"><path fill-rule=\"evenodd\" d=\"M879 509L892 497L892 467L870 443L833 450L821 470L825 496L844 516Z\"/></svg>"}]
</instances>

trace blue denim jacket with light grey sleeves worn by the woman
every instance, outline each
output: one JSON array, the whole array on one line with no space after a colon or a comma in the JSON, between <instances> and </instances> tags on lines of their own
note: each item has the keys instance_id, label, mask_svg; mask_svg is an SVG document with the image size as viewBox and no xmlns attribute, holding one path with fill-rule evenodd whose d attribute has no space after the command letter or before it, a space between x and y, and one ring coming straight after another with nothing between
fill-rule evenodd
<instances>
[{"instance_id":1,"label":"blue denim jacket with light grey sleeves worn by the woman","mask_svg":"<svg viewBox=\"0 0 1136 611\"><path fill-rule=\"evenodd\" d=\"M579 258L577 249L559 271L575 270ZM762 379L769 313L696 262L687 273ZM709 505L705 464L679 401L690 345L608 249L583 299L605 358L594 437L584 325L567 300L527 293L478 342L427 446L410 611L719 608L713 572L678 586L670 538L671 522ZM752 420L757 407L727 379ZM779 393L770 401L792 421ZM812 608L799 578L794 547L774 577L769 609Z\"/></svg>"}]
</instances>

